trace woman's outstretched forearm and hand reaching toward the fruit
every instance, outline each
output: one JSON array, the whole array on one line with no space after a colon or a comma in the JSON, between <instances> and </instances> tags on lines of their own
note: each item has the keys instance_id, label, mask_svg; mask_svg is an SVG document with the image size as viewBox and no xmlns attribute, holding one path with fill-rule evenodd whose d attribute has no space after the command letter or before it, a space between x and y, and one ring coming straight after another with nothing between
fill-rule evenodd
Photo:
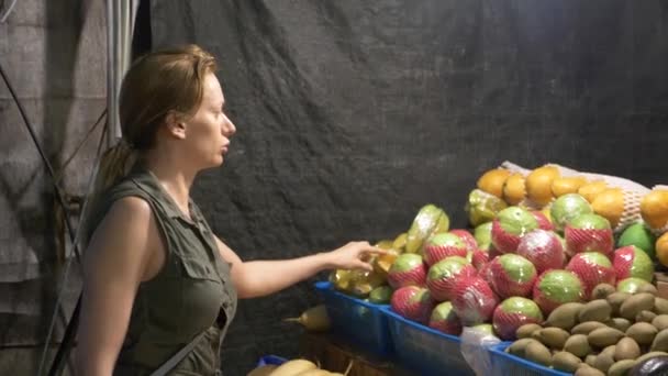
<instances>
[{"instance_id":1,"label":"woman's outstretched forearm and hand reaching toward the fruit","mask_svg":"<svg viewBox=\"0 0 668 376\"><path fill-rule=\"evenodd\" d=\"M232 280L240 298L256 298L274 294L333 268L371 270L363 258L382 250L367 242L350 242L338 250L283 261L254 261L244 263L225 243L215 239L224 259L232 263Z\"/></svg>"}]
</instances>

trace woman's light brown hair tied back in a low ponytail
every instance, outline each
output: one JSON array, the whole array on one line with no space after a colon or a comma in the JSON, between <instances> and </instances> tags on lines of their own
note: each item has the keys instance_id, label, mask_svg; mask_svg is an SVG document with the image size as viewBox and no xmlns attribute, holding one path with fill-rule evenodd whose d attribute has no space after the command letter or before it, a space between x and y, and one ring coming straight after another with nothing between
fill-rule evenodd
<instances>
[{"instance_id":1,"label":"woman's light brown hair tied back in a low ponytail","mask_svg":"<svg viewBox=\"0 0 668 376\"><path fill-rule=\"evenodd\" d=\"M132 63L119 95L123 136L100 159L88 208L94 210L99 196L127 175L142 152L155 146L167 115L189 118L197 112L204 77L215 68L215 58L197 45L152 52ZM91 210L86 210L85 222Z\"/></svg>"}]
</instances>

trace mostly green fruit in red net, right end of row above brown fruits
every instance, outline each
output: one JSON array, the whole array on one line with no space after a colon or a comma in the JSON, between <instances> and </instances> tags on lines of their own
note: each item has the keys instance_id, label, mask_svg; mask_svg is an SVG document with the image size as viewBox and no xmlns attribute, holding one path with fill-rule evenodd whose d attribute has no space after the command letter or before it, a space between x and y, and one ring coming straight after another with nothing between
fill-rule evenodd
<instances>
[{"instance_id":1,"label":"mostly green fruit in red net, right end of row above brown fruits","mask_svg":"<svg viewBox=\"0 0 668 376\"><path fill-rule=\"evenodd\" d=\"M552 269L543 273L534 285L534 301L544 314L567 302L581 302L584 288L572 272Z\"/></svg>"}]
</instances>

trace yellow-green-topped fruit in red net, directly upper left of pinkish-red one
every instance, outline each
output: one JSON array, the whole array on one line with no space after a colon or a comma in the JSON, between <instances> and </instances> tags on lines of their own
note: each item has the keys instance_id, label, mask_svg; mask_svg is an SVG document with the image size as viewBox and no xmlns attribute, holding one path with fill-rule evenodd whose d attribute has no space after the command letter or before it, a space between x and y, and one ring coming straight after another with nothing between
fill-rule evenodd
<instances>
[{"instance_id":1,"label":"yellow-green-topped fruit in red net, directly upper left of pinkish-red one","mask_svg":"<svg viewBox=\"0 0 668 376\"><path fill-rule=\"evenodd\" d=\"M455 290L455 283L461 277L472 277L478 270L466 258L459 256L447 257L432 267L426 276L426 286L436 301L450 300Z\"/></svg>"}]
</instances>

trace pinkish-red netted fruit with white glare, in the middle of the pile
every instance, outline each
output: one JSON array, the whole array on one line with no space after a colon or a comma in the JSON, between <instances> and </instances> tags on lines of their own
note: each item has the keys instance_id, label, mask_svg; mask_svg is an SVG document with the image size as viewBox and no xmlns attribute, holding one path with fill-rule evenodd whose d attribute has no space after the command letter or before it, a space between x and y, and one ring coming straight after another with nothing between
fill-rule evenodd
<instances>
[{"instance_id":1,"label":"pinkish-red netted fruit with white glare, in the middle of the pile","mask_svg":"<svg viewBox=\"0 0 668 376\"><path fill-rule=\"evenodd\" d=\"M536 267L537 274L564 267L566 256L559 236L545 230L534 230L520 241L517 254Z\"/></svg>"}]
</instances>

